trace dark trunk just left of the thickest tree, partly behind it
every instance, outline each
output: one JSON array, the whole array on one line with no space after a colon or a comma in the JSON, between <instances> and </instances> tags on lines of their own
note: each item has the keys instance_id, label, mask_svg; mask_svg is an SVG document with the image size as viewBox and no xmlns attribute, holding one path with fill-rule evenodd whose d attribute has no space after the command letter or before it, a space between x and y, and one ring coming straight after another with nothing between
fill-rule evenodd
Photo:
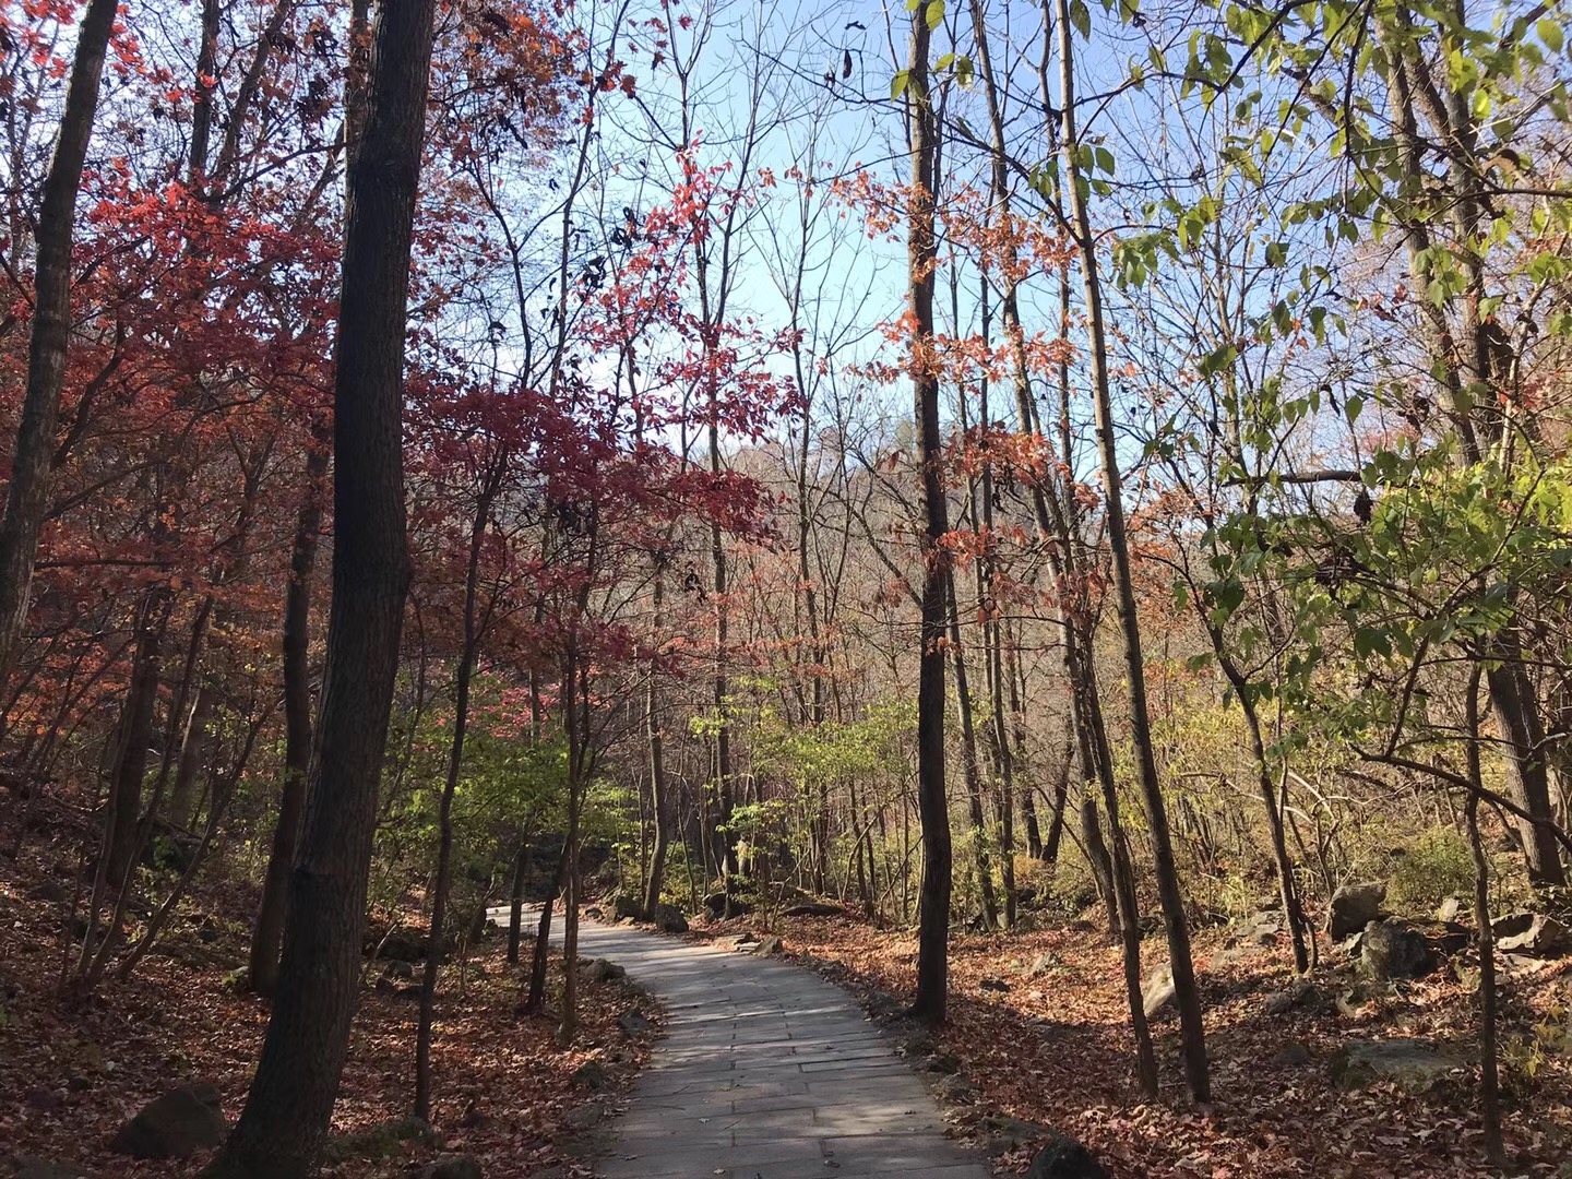
<instances>
[{"instance_id":1,"label":"dark trunk just left of the thickest tree, partly behind it","mask_svg":"<svg viewBox=\"0 0 1572 1179\"><path fill-rule=\"evenodd\" d=\"M325 442L325 439L322 440ZM278 819L263 880L263 899L252 927L250 984L258 995L278 987L278 949L283 945L289 872L300 841L307 780L311 772L311 575L322 531L322 479L327 446L307 451L307 498L296 516L289 550L289 586L285 590L285 773L278 792Z\"/></svg>"}]
</instances>

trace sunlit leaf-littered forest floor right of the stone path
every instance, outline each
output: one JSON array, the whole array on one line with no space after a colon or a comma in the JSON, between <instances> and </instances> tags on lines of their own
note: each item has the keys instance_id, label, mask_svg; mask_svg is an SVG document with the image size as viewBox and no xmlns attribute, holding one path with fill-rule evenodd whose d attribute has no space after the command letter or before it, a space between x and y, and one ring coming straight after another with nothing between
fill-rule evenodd
<instances>
[{"instance_id":1,"label":"sunlit leaf-littered forest floor right of the stone path","mask_svg":"<svg viewBox=\"0 0 1572 1179\"><path fill-rule=\"evenodd\" d=\"M758 924L758 923L751 923ZM748 918L695 937L736 934ZM916 940L860 920L783 918L784 951L849 987L876 1016L910 998ZM1328 1063L1350 1041L1413 1038L1476 1060L1476 1008L1453 971L1360 994L1335 960L1317 976L1324 1001L1265 1012L1292 981L1286 946L1229 946L1228 932L1195 938L1206 1008L1214 1100L1184 1099L1177 1020L1154 1022L1162 1097L1143 1100L1133 1069L1129 1006L1116 946L1085 923L1042 932L954 935L949 1020L937 1039L971 1082L978 1105L953 1110L962 1129L982 1111L1055 1127L1085 1143L1116 1179L1434 1179L1500 1174L1486 1165L1478 1074L1459 1069L1438 1086L1391 1083L1344 1089ZM1143 946L1148 973L1166 962L1160 935ZM1503 984L1511 1064L1506 1094L1508 1174L1572 1176L1572 1061L1563 1055L1572 1006L1572 960ZM1341 1003L1339 1003L1341 1000ZM1031 1148L1000 1159L1023 1171ZM1558 1170L1559 1168L1559 1170Z\"/></svg>"}]
</instances>

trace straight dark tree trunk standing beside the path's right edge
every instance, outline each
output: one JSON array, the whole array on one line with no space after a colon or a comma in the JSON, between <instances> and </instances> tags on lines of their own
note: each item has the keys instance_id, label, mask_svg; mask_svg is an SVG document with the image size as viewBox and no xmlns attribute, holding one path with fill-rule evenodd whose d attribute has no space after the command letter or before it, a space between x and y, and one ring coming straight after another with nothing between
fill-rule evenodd
<instances>
[{"instance_id":1,"label":"straight dark tree trunk standing beside the path's right edge","mask_svg":"<svg viewBox=\"0 0 1572 1179\"><path fill-rule=\"evenodd\" d=\"M927 0L912 11L912 63L907 68L907 115L912 146L912 192L907 222L910 275L912 409L924 516L923 605L916 679L916 806L923 830L923 883L918 913L916 995L912 1016L943 1023L949 987L949 797L945 789L945 580L943 550L949 505L940 479L943 439L938 431L938 373L934 341L934 149L938 137L927 88Z\"/></svg>"}]
</instances>

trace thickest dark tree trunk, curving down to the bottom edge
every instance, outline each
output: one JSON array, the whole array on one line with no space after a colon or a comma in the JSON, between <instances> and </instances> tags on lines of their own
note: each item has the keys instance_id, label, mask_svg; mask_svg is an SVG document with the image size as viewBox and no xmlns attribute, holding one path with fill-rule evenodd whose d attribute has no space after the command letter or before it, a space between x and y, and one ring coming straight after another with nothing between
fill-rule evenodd
<instances>
[{"instance_id":1,"label":"thickest dark tree trunk, curving down to the bottom edge","mask_svg":"<svg viewBox=\"0 0 1572 1179\"><path fill-rule=\"evenodd\" d=\"M211 1176L305 1179L327 1138L360 987L371 836L409 586L402 398L409 263L435 0L377 9L346 181L333 421L333 607L278 998Z\"/></svg>"}]
</instances>

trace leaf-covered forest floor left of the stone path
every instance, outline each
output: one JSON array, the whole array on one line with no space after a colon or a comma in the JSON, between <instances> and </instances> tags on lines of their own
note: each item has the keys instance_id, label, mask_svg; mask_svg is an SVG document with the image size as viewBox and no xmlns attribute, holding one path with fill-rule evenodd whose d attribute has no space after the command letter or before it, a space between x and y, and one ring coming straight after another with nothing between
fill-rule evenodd
<instances>
[{"instance_id":1,"label":"leaf-covered forest floor left of the stone path","mask_svg":"<svg viewBox=\"0 0 1572 1179\"><path fill-rule=\"evenodd\" d=\"M57 882L71 871L60 866L36 852L0 865L0 1174L8 1157L25 1155L99 1179L193 1176L204 1155L134 1162L108 1141L149 1100L192 1082L215 1085L231 1121L239 1113L267 1005L226 979L245 960L255 896L198 898L130 979L110 976L91 1000L66 1001L58 981L69 898L60 899ZM530 946L525 938L525 964ZM473 1155L489 1176L590 1174L574 1160L575 1116L593 1096L616 1100L648 1058L648 1044L624 1036L618 1016L634 1008L654 1020L657 1006L624 981L596 982L586 971L580 1036L560 1050L553 1016L517 1014L520 968L505 951L506 937L483 942L462 984L457 962L442 971L432 1044L440 1143L391 1132L413 1096L418 1000L413 984L377 986L384 964L373 965L333 1113L330 1151L343 1157L325 1176L407 1174L442 1149ZM556 962L552 975L560 979ZM601 1066L596 1094L574 1080L588 1061Z\"/></svg>"}]
</instances>

